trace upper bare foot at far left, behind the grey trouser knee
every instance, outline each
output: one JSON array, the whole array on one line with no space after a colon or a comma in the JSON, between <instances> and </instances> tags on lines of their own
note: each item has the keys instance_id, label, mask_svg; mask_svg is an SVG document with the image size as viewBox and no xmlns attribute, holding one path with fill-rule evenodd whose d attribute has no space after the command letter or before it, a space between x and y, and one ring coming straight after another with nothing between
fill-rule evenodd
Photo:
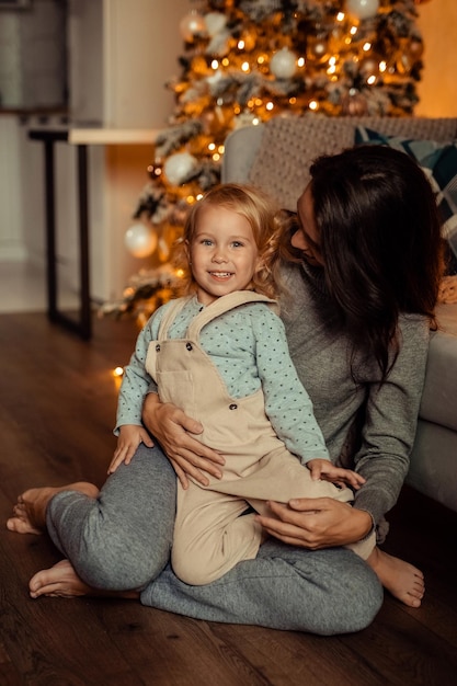
<instances>
[{"instance_id":1,"label":"upper bare foot at far left, behind the grey trouser knee","mask_svg":"<svg viewBox=\"0 0 457 686\"><path fill-rule=\"evenodd\" d=\"M13 507L14 516L7 522L7 528L18 534L42 534L46 526L46 510L50 499L60 491L79 491L96 498L99 489L93 483L78 481L62 487L28 489L18 498Z\"/></svg>"}]
</instances>

